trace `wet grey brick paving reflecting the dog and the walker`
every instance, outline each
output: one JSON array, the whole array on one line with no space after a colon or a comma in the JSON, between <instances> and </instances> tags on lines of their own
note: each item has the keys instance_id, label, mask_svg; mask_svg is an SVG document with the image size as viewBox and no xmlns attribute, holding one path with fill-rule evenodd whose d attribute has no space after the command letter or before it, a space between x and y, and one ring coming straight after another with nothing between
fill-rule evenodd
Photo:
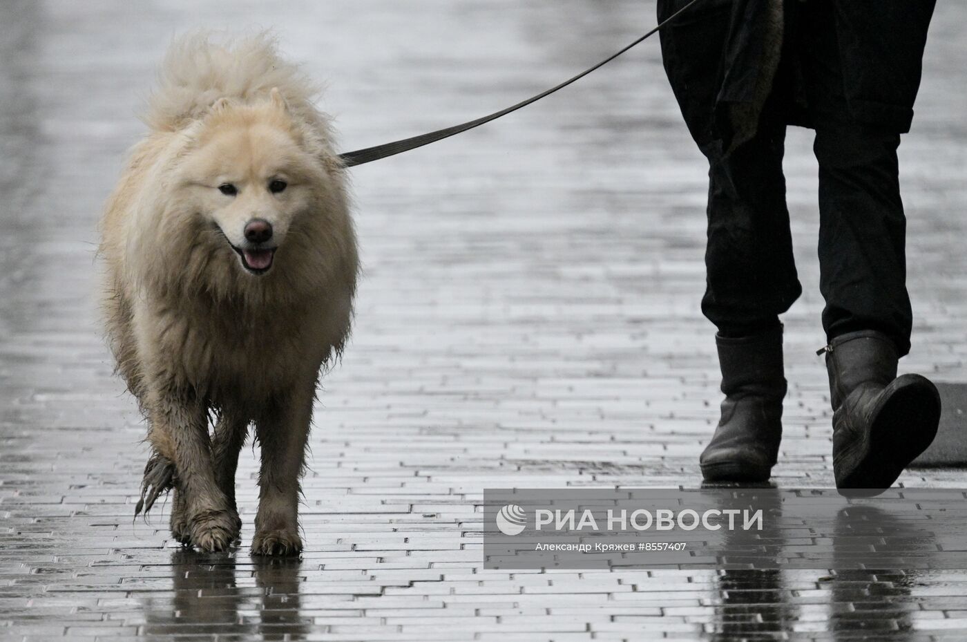
<instances>
[{"instance_id":1,"label":"wet grey brick paving reflecting the dog and the walker","mask_svg":"<svg viewBox=\"0 0 967 642\"><path fill-rule=\"evenodd\" d=\"M277 6L280 5L280 6ZM484 570L484 487L695 486L718 419L706 167L657 41L477 131L352 170L364 275L315 408L301 561L132 521L145 430L98 327L96 222L171 35L274 27L343 149L462 122L634 40L654 3L0 4L0 642L902 640L967 636L957 570ZM940 3L904 138L914 347L967 381L967 7ZM803 298L776 481L833 484L808 132L786 173ZM918 470L906 486L964 487Z\"/></svg>"}]
</instances>

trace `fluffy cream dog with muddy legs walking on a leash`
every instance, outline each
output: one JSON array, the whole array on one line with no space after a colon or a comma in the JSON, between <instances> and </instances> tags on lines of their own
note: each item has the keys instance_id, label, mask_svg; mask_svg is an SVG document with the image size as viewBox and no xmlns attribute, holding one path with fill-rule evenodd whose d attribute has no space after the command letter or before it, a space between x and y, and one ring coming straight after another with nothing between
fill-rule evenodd
<instances>
[{"instance_id":1,"label":"fluffy cream dog with muddy legs walking on a leash","mask_svg":"<svg viewBox=\"0 0 967 642\"><path fill-rule=\"evenodd\" d=\"M102 219L106 333L150 424L136 513L173 489L172 535L204 551L239 539L250 425L262 458L251 552L302 549L312 404L349 335L358 272L315 94L264 35L176 41Z\"/></svg>"}]
</instances>

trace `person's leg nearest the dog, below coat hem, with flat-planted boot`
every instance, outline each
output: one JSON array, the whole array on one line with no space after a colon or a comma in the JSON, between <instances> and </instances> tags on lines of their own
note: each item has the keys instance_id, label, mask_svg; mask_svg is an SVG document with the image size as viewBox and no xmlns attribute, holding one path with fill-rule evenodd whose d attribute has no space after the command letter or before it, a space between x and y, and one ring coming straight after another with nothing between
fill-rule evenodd
<instances>
[{"instance_id":1,"label":"person's leg nearest the dog, below coat hem, with flat-planted boot","mask_svg":"<svg viewBox=\"0 0 967 642\"><path fill-rule=\"evenodd\" d=\"M721 416L699 462L706 482L762 482L782 435L782 326L802 288L796 275L782 175L785 128L760 123L728 157L709 159L706 292L718 328Z\"/></svg>"}]
</instances>

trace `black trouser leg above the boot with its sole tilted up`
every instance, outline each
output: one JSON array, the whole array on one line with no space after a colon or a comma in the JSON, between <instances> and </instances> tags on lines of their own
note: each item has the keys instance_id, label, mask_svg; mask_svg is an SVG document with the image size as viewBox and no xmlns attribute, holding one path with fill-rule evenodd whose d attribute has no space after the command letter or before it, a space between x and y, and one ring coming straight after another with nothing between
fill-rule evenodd
<instances>
[{"instance_id":1,"label":"black trouser leg above the boot with its sole tilted up","mask_svg":"<svg viewBox=\"0 0 967 642\"><path fill-rule=\"evenodd\" d=\"M876 330L910 351L906 218L900 199L899 134L828 120L816 127L820 290L829 339Z\"/></svg>"}]
</instances>

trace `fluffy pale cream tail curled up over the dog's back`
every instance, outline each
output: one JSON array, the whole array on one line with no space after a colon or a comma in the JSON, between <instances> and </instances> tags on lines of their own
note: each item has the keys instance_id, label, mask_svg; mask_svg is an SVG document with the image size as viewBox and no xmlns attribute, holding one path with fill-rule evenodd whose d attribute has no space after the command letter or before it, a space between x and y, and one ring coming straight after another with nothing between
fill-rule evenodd
<instances>
[{"instance_id":1,"label":"fluffy pale cream tail curled up over the dog's back","mask_svg":"<svg viewBox=\"0 0 967 642\"><path fill-rule=\"evenodd\" d=\"M155 131L178 131L220 99L258 101L273 88L293 112L319 122L312 104L319 88L298 66L279 57L276 40L269 34L216 44L210 33L192 33L168 48L142 120Z\"/></svg>"}]
</instances>

